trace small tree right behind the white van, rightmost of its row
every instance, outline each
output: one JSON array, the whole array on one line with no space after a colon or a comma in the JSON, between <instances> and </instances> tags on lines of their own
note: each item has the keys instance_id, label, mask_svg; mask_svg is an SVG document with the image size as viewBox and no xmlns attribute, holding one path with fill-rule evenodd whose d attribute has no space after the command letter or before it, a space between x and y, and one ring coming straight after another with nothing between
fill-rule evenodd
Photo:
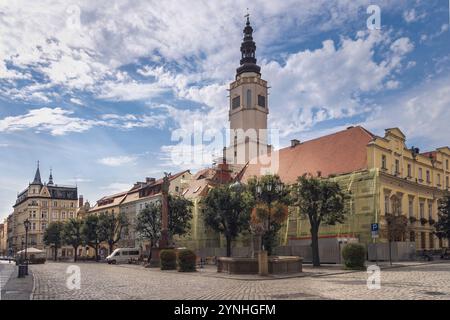
<instances>
[{"instance_id":1,"label":"small tree right behind the white van, rightmost of its row","mask_svg":"<svg viewBox=\"0 0 450 320\"><path fill-rule=\"evenodd\" d=\"M127 217L123 212L119 214L101 213L98 216L98 232L100 239L106 241L109 246L109 254L113 252L114 245L120 241L126 227Z\"/></svg>"}]
</instances>

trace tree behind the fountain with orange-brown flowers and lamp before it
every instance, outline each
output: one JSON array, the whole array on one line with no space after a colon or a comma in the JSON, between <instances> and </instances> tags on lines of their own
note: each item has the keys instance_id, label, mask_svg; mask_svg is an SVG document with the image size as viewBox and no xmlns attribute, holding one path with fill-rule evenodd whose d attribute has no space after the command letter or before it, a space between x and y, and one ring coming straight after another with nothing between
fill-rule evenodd
<instances>
[{"instance_id":1,"label":"tree behind the fountain with orange-brown flowers and lamp before it","mask_svg":"<svg viewBox=\"0 0 450 320\"><path fill-rule=\"evenodd\" d=\"M262 246L271 255L278 231L288 216L289 189L278 175L272 174L251 178L248 188L255 203L252 221L263 225Z\"/></svg>"}]
</instances>

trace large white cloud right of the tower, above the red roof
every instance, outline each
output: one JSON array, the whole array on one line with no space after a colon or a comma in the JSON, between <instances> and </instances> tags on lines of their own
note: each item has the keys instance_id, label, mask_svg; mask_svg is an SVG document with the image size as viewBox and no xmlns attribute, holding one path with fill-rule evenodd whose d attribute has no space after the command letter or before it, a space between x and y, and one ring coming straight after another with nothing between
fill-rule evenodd
<instances>
[{"instance_id":1,"label":"large white cloud right of the tower, above the red roof","mask_svg":"<svg viewBox=\"0 0 450 320\"><path fill-rule=\"evenodd\" d=\"M379 62L376 46L387 46ZM271 127L288 135L368 112L372 106L361 95L397 88L392 76L412 49L408 38L393 41L386 33L359 33L356 39L326 40L319 49L289 55L283 65L268 62L262 70L272 87Z\"/></svg>"}]
</instances>

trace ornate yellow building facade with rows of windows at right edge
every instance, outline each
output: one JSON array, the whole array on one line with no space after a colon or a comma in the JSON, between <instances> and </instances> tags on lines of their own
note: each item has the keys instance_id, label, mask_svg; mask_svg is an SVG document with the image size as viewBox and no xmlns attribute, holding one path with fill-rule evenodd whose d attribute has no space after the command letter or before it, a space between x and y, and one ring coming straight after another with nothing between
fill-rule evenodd
<instances>
[{"instance_id":1,"label":"ornate yellow building facade with rows of windows at right edge","mask_svg":"<svg viewBox=\"0 0 450 320\"><path fill-rule=\"evenodd\" d=\"M369 168L378 171L377 220L386 228L386 214L408 218L408 232L401 239L416 243L417 250L448 246L434 236L438 220L438 200L450 190L450 149L421 153L406 146L398 128L387 129L367 147Z\"/></svg>"}]
</instances>

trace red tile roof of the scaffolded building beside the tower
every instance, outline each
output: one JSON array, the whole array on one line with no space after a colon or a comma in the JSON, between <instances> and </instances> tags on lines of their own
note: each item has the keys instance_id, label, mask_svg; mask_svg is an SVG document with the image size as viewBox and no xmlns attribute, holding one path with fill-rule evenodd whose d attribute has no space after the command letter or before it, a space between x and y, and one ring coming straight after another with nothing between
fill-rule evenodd
<instances>
[{"instance_id":1,"label":"red tile roof of the scaffolded building beside the tower","mask_svg":"<svg viewBox=\"0 0 450 320\"><path fill-rule=\"evenodd\" d=\"M374 135L357 126L317 139L305 141L295 147L276 151L278 174L285 183L293 183L297 177L308 173L314 176L320 171L322 177L363 170L367 165L367 145ZM242 181L264 174L260 164L249 164L244 169Z\"/></svg>"}]
</instances>

